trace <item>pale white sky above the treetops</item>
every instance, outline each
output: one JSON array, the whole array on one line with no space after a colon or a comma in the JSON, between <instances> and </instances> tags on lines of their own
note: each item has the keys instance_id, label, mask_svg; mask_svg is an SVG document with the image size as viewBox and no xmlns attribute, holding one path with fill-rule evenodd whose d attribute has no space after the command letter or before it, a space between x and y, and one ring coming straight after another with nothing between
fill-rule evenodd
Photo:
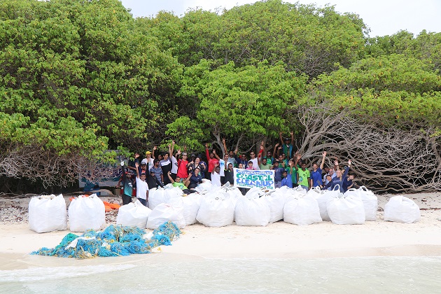
<instances>
[{"instance_id":1,"label":"pale white sky above the treetops","mask_svg":"<svg viewBox=\"0 0 441 294\"><path fill-rule=\"evenodd\" d=\"M297 0L284 0L295 3ZM160 10L182 16L188 8L214 11L216 8L230 9L255 0L121 0L125 8L132 9L137 17L154 17ZM316 3L335 5L339 13L356 13L370 28L370 36L385 36L406 30L415 36L423 29L441 32L441 0L299 0L302 4Z\"/></svg>"}]
</instances>

